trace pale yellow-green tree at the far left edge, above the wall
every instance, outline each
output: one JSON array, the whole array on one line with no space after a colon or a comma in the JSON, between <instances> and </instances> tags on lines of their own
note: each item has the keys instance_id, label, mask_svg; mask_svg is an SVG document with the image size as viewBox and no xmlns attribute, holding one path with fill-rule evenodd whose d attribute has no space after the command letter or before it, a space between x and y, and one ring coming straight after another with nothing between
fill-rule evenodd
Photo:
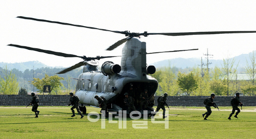
<instances>
[{"instance_id":1,"label":"pale yellow-green tree at the far left edge, above the wall","mask_svg":"<svg viewBox=\"0 0 256 139\"><path fill-rule=\"evenodd\" d=\"M18 94L19 83L12 71L8 71L7 65L3 68L2 72L5 74L4 78L0 77L0 93L4 95Z\"/></svg>"}]
</instances>

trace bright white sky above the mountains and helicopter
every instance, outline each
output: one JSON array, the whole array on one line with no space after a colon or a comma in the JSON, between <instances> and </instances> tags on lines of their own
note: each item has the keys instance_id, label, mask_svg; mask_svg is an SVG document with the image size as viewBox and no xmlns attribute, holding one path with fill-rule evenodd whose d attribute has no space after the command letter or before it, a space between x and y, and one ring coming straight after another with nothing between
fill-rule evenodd
<instances>
[{"instance_id":1,"label":"bright white sky above the mountains and helicopter","mask_svg":"<svg viewBox=\"0 0 256 139\"><path fill-rule=\"evenodd\" d=\"M4 1L0 0L0 62L40 61L69 67L81 58L66 58L7 46L17 44L80 56L121 55L125 38L100 30L37 22L31 17L114 31L143 33L256 31L256 1ZM256 50L256 33L141 37L147 52L194 49L197 51L148 54L147 64L173 58L225 59ZM99 61L120 64L121 58Z\"/></svg>"}]
</instances>

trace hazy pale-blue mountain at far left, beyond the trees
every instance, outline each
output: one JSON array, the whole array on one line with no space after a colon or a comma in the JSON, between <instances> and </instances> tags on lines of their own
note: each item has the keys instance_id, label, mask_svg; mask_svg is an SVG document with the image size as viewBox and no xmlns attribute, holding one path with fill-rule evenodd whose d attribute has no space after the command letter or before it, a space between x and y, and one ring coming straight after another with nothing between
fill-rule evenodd
<instances>
[{"instance_id":1,"label":"hazy pale-blue mountain at far left, beyond the trees","mask_svg":"<svg viewBox=\"0 0 256 139\"><path fill-rule=\"evenodd\" d=\"M7 65L8 69L19 69L19 71L24 72L25 69L37 69L41 67L47 67L46 64L43 64L39 61L28 61L28 62L20 62L20 63L5 63L5 62L0 62L0 67L5 67Z\"/></svg>"}]
</instances>

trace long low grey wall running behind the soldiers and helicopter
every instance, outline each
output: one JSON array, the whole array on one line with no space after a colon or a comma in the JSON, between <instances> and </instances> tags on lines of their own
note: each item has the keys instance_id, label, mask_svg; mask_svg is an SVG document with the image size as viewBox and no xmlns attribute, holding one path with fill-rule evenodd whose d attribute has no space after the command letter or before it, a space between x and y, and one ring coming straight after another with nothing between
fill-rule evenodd
<instances>
[{"instance_id":1,"label":"long low grey wall running behind the soldiers and helicopter","mask_svg":"<svg viewBox=\"0 0 256 139\"><path fill-rule=\"evenodd\" d=\"M69 104L69 95L37 95L40 106L66 106ZM159 96L155 97L157 106ZM169 106L204 106L203 100L207 96L168 96ZM233 96L216 96L214 101L218 106L230 106ZM256 96L241 96L243 106L256 106ZM0 106L26 106L31 101L31 95L0 95Z\"/></svg>"}]
</instances>

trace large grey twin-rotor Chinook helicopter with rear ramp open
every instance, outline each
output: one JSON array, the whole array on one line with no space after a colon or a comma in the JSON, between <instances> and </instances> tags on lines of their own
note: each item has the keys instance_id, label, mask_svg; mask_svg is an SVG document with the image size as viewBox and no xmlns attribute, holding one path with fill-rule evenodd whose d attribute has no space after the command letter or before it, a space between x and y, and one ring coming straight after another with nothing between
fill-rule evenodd
<instances>
[{"instance_id":1,"label":"large grey twin-rotor Chinook helicopter with rear ramp open","mask_svg":"<svg viewBox=\"0 0 256 139\"><path fill-rule=\"evenodd\" d=\"M91 105L98 107L98 102L94 99L95 95L99 97L103 96L108 101L107 108L110 112L118 112L120 110L127 110L127 106L124 102L124 94L129 93L135 100L136 109L139 108L139 98L141 93L147 90L147 114L150 115L153 109L155 92L158 89L158 81L149 76L149 74L154 74L156 68L153 65L146 64L146 55L152 53L163 53L163 52L146 52L146 43L141 42L138 38L140 36L147 37L148 35L167 35L167 36L184 36L184 35L206 35L206 34L229 34L229 33L256 33L256 31L218 31L218 32L181 32L181 33L131 33L129 31L112 31L107 29L99 29L94 27L87 27L57 21L49 21L42 19L35 19L29 17L17 17L21 19L34 20L40 22L48 22L69 26L76 26L82 28L96 29L102 31L109 31L119 34L124 34L126 38L117 41L115 44L110 46L107 50L113 50L119 45L125 43L122 50L121 65L115 64L111 61L106 61L101 65L101 70L99 70L99 63L95 60L102 58L111 58L117 56L96 56L96 57L86 57L78 56L74 54L67 54L62 52L55 52L50 50L43 50L33 47L21 46L16 44L9 44L9 46L24 48L28 50L34 50L38 52L43 52L47 54L54 54L63 57L80 57L83 61L64 69L57 74L65 74L72 69L83 66L83 73L79 75L76 85L76 96L80 99L81 106L80 110L85 114L86 107L83 106ZM187 49L187 50L175 50L175 51L164 51L164 52L178 52L178 51L189 51L198 49Z\"/></svg>"}]
</instances>

